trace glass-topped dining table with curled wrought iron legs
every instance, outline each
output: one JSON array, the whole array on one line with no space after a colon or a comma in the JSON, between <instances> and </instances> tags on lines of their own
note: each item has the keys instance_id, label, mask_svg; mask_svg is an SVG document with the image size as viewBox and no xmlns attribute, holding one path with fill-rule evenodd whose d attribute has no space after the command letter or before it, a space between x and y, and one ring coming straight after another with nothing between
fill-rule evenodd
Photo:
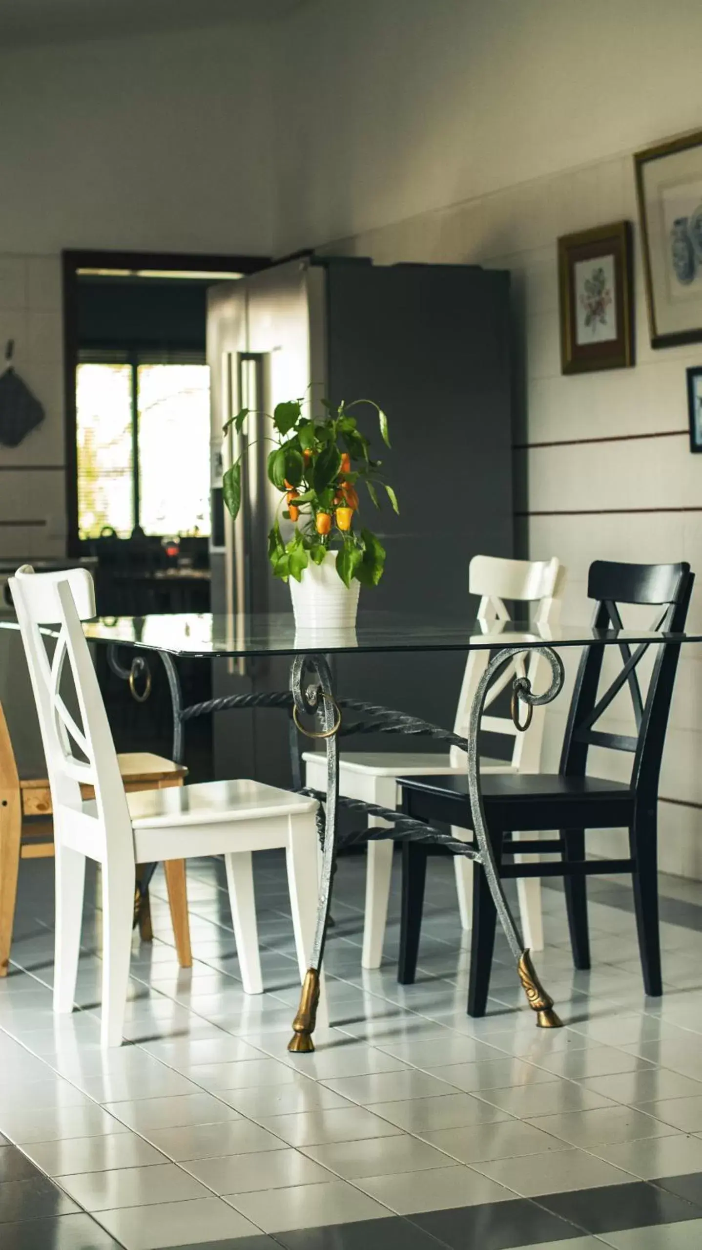
<instances>
[{"instance_id":1,"label":"glass-topped dining table with curled wrought iron legs","mask_svg":"<svg viewBox=\"0 0 702 1250\"><path fill-rule=\"evenodd\" d=\"M319 906L315 941L309 958L309 971L302 985L300 1006L292 1021L294 1051L314 1050L320 970L329 926L331 888L336 856L342 846L371 839L422 840L443 845L455 855L465 855L482 865L530 1006L541 1026L560 1026L553 1001L542 985L525 949L520 926L505 896L486 829L480 784L478 734L488 689L503 676L506 666L527 654L538 652L546 661L547 688L535 691L523 668L512 678L511 711L516 731L526 729L530 709L551 702L563 685L562 654L570 649L590 646L617 648L622 660L620 685L631 685L633 670L651 645L680 646L702 641L698 634L671 634L660 630L593 629L590 626L545 626L530 621L447 620L431 615L411 619L405 614L361 612L351 630L299 630L291 614L264 616L167 615L144 618L110 618L85 622L85 634L95 644L109 646L112 670L129 680L132 694L142 699L151 681L149 656L157 656L169 680L174 711L174 759L182 760L184 725L194 716L246 706L277 706L287 709L291 742L297 732L317 740L326 749L326 790L317 794L320 809L317 829L321 846ZM470 711L466 736L420 718L397 712L373 704L342 698L332 681L332 658L351 652L407 652L418 659L430 652L471 649L491 652L478 682ZM129 654L127 654L129 652ZM230 695L192 706L184 706L177 674L179 659L237 660L261 656L285 656L290 660L287 690ZM411 679L408 684L411 702ZM520 705L522 708L520 709ZM349 720L352 716L353 720ZM339 796L339 739L350 732L401 734L425 736L448 746L461 748L467 756L467 782L473 841L460 841L445 829L435 829L402 811ZM301 789L299 764L294 765L294 788ZM352 834L340 834L340 802L357 811L363 828ZM367 816L381 818L383 825L367 828Z\"/></svg>"}]
</instances>

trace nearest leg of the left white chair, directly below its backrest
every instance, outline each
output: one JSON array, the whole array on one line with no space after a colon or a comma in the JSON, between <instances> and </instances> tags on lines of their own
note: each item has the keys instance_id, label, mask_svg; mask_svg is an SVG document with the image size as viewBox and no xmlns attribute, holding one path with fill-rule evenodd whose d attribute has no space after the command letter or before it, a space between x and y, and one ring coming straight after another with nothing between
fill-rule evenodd
<instances>
[{"instance_id":1,"label":"nearest leg of the left white chair, directly below its backrest","mask_svg":"<svg viewBox=\"0 0 702 1250\"><path fill-rule=\"evenodd\" d=\"M135 885L132 864L102 864L102 1048L122 1044Z\"/></svg>"}]
</instances>

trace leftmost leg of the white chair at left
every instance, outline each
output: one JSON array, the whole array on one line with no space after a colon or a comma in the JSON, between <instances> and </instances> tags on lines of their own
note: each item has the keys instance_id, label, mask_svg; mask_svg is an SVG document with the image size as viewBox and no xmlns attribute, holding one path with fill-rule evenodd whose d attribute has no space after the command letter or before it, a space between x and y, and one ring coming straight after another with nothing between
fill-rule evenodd
<instances>
[{"instance_id":1,"label":"leftmost leg of the white chair at left","mask_svg":"<svg viewBox=\"0 0 702 1250\"><path fill-rule=\"evenodd\" d=\"M54 874L56 880L55 904L55 956L54 956L54 1011L71 1012L75 1002L80 930L82 926L82 896L85 891L85 855L56 842ZM127 924L131 932L134 890L127 904Z\"/></svg>"}]
</instances>

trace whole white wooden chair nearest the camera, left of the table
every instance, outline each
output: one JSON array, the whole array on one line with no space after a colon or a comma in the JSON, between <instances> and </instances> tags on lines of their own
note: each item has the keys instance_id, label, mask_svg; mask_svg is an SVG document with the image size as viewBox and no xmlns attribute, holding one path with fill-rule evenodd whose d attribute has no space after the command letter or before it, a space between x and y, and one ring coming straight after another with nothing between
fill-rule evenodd
<instances>
[{"instance_id":1,"label":"whole white wooden chair nearest the camera, left of the table","mask_svg":"<svg viewBox=\"0 0 702 1250\"><path fill-rule=\"evenodd\" d=\"M316 921L317 804L249 780L125 794L105 704L80 624L81 619L95 615L90 574L85 569L35 574L24 566L10 586L39 712L54 809L54 1010L70 1012L74 1006L86 859L101 865L102 878L104 1046L119 1046L122 1040L136 864L195 855L225 856L244 990L261 994L251 852L285 848L304 979ZM51 660L40 630L45 624L60 624ZM61 696L66 659L81 725ZM81 785L94 786L95 799L84 800Z\"/></svg>"}]
</instances>

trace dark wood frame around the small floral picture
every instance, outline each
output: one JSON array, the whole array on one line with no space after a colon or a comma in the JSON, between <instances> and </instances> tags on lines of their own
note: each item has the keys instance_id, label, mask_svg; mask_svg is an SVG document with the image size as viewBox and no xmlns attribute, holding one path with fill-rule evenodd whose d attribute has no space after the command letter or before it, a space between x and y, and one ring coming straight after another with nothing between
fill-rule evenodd
<instances>
[{"instance_id":1,"label":"dark wood frame around the small floral picture","mask_svg":"<svg viewBox=\"0 0 702 1250\"><path fill-rule=\"evenodd\" d=\"M613 291L603 285L601 315L596 318L606 325L613 318L613 338L593 338L592 342L578 341L578 292L576 265L612 258ZM602 282L605 274L598 270ZM595 274L591 275L593 278ZM558 239L558 299L561 311L561 371L586 374L598 369L628 369L635 362L633 352L633 279L631 222L615 221L612 225L581 230ZM610 311L611 309L611 311ZM586 316L591 316L586 309ZM591 316L592 321L592 316ZM596 326L597 329L597 326Z\"/></svg>"}]
</instances>

